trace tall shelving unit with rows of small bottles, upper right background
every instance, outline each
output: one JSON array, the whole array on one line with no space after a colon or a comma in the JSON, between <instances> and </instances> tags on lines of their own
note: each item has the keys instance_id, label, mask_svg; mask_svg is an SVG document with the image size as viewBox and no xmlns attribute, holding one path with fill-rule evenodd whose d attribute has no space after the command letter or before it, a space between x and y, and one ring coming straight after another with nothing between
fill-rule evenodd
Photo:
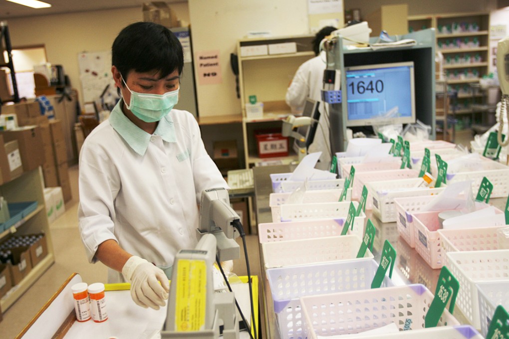
<instances>
[{"instance_id":1,"label":"tall shelving unit with rows of small bottles, upper right background","mask_svg":"<svg viewBox=\"0 0 509 339\"><path fill-rule=\"evenodd\" d=\"M490 14L480 12L409 16L408 27L409 32L423 27L436 29L436 50L444 56L442 68L447 90L454 90L458 94L455 113L463 115L459 117L462 123L462 119L471 119L465 124L466 127L486 121L484 115L489 112L478 109L486 99L473 91L472 87L478 85L480 78L488 75ZM447 109L450 111L451 107ZM466 114L471 114L471 117Z\"/></svg>"}]
</instances>

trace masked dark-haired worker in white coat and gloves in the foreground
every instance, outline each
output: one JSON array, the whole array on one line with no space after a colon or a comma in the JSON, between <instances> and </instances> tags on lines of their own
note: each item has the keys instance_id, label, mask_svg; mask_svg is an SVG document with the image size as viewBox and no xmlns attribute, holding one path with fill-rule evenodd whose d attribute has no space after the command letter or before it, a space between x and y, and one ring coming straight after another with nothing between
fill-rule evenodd
<instances>
[{"instance_id":1,"label":"masked dark-haired worker in white coat and gloves in the foreground","mask_svg":"<svg viewBox=\"0 0 509 339\"><path fill-rule=\"evenodd\" d=\"M88 260L108 282L131 283L132 299L159 309L177 252L194 249L203 190L228 189L179 99L183 51L164 26L136 22L112 48L121 100L84 141L79 230Z\"/></svg>"}]
</instances>

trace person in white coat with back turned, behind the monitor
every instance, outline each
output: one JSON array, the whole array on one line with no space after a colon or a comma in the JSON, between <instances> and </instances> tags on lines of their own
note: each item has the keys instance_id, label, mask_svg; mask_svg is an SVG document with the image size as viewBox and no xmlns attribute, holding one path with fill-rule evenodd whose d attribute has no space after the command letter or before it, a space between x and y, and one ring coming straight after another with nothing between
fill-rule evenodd
<instances>
[{"instance_id":1,"label":"person in white coat with back turned, behind the monitor","mask_svg":"<svg viewBox=\"0 0 509 339\"><path fill-rule=\"evenodd\" d=\"M295 73L286 93L286 103L293 110L302 110L307 98L320 102L320 120L317 126L315 139L309 145L308 152L322 151L320 162L317 168L329 169L331 162L330 141L329 141L329 117L325 114L321 90L323 88L323 72L326 68L325 52L320 52L320 43L337 28L326 26L319 30L313 39L313 51L315 57L300 65Z\"/></svg>"}]
</instances>

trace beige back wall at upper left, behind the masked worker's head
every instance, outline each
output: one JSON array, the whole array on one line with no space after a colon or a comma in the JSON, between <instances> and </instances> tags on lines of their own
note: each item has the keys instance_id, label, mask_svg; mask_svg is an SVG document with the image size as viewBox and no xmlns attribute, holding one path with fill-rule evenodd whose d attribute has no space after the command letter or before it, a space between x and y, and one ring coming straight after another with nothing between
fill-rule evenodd
<instances>
[{"instance_id":1,"label":"beige back wall at upper left, behind the masked worker's head","mask_svg":"<svg viewBox=\"0 0 509 339\"><path fill-rule=\"evenodd\" d=\"M170 6L179 19L189 22L186 3ZM13 47L45 45L48 63L63 65L81 100L78 54L111 49L120 30L143 20L141 7L9 19Z\"/></svg>"}]
</instances>

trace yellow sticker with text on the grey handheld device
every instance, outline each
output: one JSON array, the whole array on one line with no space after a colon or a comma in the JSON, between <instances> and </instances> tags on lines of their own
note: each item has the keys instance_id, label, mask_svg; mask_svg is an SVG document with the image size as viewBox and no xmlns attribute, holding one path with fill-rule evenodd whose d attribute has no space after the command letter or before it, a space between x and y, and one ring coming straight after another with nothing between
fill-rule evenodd
<instances>
[{"instance_id":1,"label":"yellow sticker with text on the grey handheld device","mask_svg":"<svg viewBox=\"0 0 509 339\"><path fill-rule=\"evenodd\" d=\"M207 266L204 260L179 260L175 300L175 331L198 331L205 326Z\"/></svg>"}]
</instances>

